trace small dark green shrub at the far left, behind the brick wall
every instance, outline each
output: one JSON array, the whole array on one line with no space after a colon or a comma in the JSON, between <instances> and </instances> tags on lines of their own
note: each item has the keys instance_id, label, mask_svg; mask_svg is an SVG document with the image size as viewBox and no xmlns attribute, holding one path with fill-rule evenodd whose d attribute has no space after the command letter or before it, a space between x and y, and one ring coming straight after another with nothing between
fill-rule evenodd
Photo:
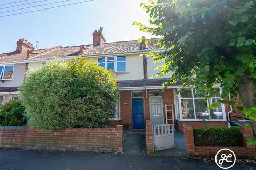
<instances>
[{"instance_id":1,"label":"small dark green shrub at the far left, behind the brick wall","mask_svg":"<svg viewBox=\"0 0 256 170\"><path fill-rule=\"evenodd\" d=\"M12 100L5 103L0 108L1 126L24 126L27 120L24 116L24 106L18 100Z\"/></svg>"}]
</instances>

